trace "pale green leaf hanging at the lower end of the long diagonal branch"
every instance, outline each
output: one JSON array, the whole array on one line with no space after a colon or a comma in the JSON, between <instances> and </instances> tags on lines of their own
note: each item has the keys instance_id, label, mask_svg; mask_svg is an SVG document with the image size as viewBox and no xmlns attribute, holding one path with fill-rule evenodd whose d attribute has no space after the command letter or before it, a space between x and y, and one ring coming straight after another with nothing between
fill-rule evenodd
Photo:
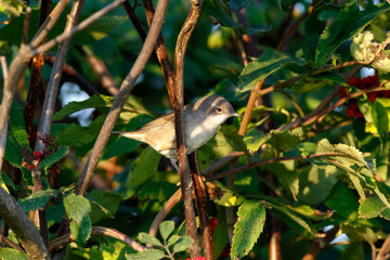
<instances>
[{"instance_id":1,"label":"pale green leaf hanging at the lower end of the long diagonal branch","mask_svg":"<svg viewBox=\"0 0 390 260\"><path fill-rule=\"evenodd\" d=\"M69 194L64 198L65 212L70 222L70 233L76 237L76 242L83 244L91 234L92 224L89 217L91 205L87 198L80 195Z\"/></svg>"}]
</instances>

